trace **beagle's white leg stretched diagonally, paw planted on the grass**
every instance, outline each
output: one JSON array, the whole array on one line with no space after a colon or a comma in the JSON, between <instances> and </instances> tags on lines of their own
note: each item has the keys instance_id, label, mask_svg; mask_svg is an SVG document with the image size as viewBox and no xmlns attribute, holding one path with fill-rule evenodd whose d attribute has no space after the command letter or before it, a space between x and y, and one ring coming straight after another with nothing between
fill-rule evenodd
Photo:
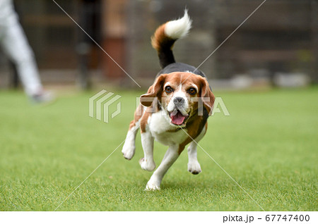
<instances>
[{"instance_id":1,"label":"beagle's white leg stretched diagonally, paw planted on the grass","mask_svg":"<svg viewBox=\"0 0 318 224\"><path fill-rule=\"evenodd\" d=\"M158 166L157 170L153 172L151 179L148 181L146 185L146 190L156 190L160 189L161 180L163 180L163 176L167 172L167 170L172 166L173 163L179 157L179 146L174 145L170 146L163 157L163 161L161 161L160 166Z\"/></svg>"}]
</instances>

